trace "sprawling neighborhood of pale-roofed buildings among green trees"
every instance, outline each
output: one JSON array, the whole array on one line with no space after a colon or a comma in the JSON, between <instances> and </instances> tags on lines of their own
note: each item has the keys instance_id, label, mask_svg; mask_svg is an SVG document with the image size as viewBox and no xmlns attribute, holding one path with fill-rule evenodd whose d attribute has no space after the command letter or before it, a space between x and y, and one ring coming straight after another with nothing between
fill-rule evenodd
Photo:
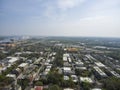
<instances>
[{"instance_id":1,"label":"sprawling neighborhood of pale-roofed buildings among green trees","mask_svg":"<svg viewBox=\"0 0 120 90\"><path fill-rule=\"evenodd\" d=\"M107 56L112 48L44 39L18 40L9 51L3 47L8 55L0 59L0 90L103 90L105 80L120 79L120 61Z\"/></svg>"}]
</instances>

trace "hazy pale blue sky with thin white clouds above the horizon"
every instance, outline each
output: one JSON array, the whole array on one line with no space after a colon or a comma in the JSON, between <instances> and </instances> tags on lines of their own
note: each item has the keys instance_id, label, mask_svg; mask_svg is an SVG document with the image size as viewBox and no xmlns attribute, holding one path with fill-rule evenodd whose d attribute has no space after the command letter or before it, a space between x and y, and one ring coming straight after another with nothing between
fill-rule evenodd
<instances>
[{"instance_id":1,"label":"hazy pale blue sky with thin white clouds above the horizon","mask_svg":"<svg viewBox=\"0 0 120 90\"><path fill-rule=\"evenodd\" d=\"M120 37L120 0L0 0L0 36Z\"/></svg>"}]
</instances>

